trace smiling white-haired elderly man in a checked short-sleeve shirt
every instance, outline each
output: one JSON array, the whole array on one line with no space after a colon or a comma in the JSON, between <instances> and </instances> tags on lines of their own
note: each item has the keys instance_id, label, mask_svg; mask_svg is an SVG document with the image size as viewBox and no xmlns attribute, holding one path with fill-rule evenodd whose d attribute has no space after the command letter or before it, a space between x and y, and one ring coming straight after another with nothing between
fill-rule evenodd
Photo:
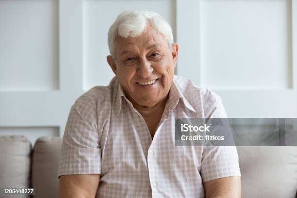
<instances>
[{"instance_id":1,"label":"smiling white-haired elderly man in a checked short-sleeve shirt","mask_svg":"<svg viewBox=\"0 0 297 198\"><path fill-rule=\"evenodd\" d=\"M60 197L240 197L236 148L175 146L175 118L227 115L217 95L174 75L179 46L165 19L123 12L108 45L115 77L70 110Z\"/></svg>"}]
</instances>

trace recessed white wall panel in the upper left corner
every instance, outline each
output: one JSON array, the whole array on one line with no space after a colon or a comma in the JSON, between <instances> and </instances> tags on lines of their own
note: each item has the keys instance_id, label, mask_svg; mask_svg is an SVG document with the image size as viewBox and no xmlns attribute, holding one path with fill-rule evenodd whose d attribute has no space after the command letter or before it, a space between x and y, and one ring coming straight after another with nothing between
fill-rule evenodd
<instances>
[{"instance_id":1,"label":"recessed white wall panel in the upper left corner","mask_svg":"<svg viewBox=\"0 0 297 198\"><path fill-rule=\"evenodd\" d=\"M0 29L0 91L58 89L58 1L0 0Z\"/></svg>"}]
</instances>

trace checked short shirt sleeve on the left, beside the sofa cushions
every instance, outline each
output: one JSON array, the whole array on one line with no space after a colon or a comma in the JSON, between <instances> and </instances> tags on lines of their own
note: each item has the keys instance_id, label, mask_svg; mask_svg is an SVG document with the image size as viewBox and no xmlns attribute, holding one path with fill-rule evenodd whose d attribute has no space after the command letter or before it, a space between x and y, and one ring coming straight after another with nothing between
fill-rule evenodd
<instances>
[{"instance_id":1,"label":"checked short shirt sleeve on the left, beside the sofa cushions","mask_svg":"<svg viewBox=\"0 0 297 198\"><path fill-rule=\"evenodd\" d=\"M71 107L62 142L58 177L100 174L101 149L96 101L81 96Z\"/></svg>"}]
</instances>

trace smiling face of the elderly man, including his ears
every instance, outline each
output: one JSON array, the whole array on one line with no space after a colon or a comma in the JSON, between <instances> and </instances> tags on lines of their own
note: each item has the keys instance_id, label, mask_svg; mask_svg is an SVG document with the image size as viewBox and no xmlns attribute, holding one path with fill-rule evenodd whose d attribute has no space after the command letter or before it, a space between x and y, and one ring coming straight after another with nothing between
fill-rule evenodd
<instances>
[{"instance_id":1,"label":"smiling face of the elderly man, including his ears","mask_svg":"<svg viewBox=\"0 0 297 198\"><path fill-rule=\"evenodd\" d=\"M149 24L138 37L115 39L115 60L107 57L126 96L133 104L152 107L166 98L174 75L178 45Z\"/></svg>"}]
</instances>

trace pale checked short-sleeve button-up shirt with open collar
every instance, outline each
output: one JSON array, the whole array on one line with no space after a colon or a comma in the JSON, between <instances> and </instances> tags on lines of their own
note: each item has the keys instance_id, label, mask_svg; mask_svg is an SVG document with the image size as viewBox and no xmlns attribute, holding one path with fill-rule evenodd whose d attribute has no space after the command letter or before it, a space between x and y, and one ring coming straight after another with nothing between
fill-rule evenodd
<instances>
[{"instance_id":1,"label":"pale checked short-sleeve button-up shirt with open collar","mask_svg":"<svg viewBox=\"0 0 297 198\"><path fill-rule=\"evenodd\" d=\"M235 147L175 146L175 118L227 117L221 99L174 76L151 138L116 78L95 86L71 107L59 176L100 174L100 198L203 198L203 182L240 176Z\"/></svg>"}]
</instances>

